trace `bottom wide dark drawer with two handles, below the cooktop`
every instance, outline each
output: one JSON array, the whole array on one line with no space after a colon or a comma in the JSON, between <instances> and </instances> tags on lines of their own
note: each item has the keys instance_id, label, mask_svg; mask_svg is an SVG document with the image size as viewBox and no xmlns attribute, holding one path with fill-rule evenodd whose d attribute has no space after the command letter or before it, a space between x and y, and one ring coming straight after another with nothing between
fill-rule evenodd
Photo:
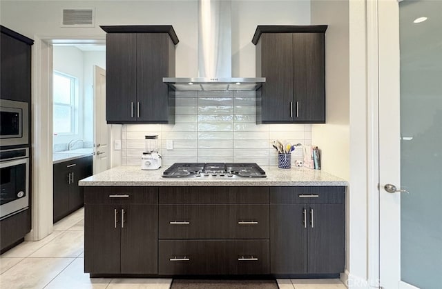
<instances>
[{"instance_id":1,"label":"bottom wide dark drawer with two handles, below the cooktop","mask_svg":"<svg viewBox=\"0 0 442 289\"><path fill-rule=\"evenodd\" d=\"M160 275L269 274L269 240L160 240Z\"/></svg>"}]
</instances>

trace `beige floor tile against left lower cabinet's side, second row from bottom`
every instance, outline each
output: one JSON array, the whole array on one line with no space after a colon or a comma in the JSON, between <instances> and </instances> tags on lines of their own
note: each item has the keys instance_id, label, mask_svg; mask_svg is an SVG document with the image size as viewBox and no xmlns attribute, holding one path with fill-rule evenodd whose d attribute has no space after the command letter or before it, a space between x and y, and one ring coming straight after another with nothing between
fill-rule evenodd
<instances>
[{"instance_id":1,"label":"beige floor tile against left lower cabinet's side, second row from bottom","mask_svg":"<svg viewBox=\"0 0 442 289\"><path fill-rule=\"evenodd\" d=\"M29 257L78 257L84 250L84 232L66 231Z\"/></svg>"}]
</instances>

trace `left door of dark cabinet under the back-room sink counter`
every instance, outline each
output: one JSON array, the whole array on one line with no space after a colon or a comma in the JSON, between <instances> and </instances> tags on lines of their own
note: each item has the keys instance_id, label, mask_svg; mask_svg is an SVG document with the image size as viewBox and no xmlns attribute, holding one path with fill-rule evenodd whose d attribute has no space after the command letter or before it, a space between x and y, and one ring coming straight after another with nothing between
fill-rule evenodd
<instances>
[{"instance_id":1,"label":"left door of dark cabinet under the back-room sink counter","mask_svg":"<svg viewBox=\"0 0 442 289\"><path fill-rule=\"evenodd\" d=\"M66 216L69 210L69 171L66 162L55 163L53 166L53 221Z\"/></svg>"}]
</instances>

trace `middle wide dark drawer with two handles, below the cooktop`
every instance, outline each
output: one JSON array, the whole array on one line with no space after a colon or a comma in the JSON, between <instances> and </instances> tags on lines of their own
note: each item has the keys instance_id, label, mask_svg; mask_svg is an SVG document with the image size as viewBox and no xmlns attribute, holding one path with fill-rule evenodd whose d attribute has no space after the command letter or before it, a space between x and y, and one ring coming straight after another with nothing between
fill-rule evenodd
<instances>
[{"instance_id":1,"label":"middle wide dark drawer with two handles, below the cooktop","mask_svg":"<svg viewBox=\"0 0 442 289\"><path fill-rule=\"evenodd\" d=\"M269 239L269 205L163 205L160 239Z\"/></svg>"}]
</instances>

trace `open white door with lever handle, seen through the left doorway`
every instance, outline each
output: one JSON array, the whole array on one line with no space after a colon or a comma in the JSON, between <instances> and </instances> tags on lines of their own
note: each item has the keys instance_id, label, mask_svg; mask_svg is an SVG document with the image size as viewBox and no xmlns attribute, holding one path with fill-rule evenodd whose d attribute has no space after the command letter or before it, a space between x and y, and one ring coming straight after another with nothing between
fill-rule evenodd
<instances>
[{"instance_id":1,"label":"open white door with lever handle, seen through the left doorway","mask_svg":"<svg viewBox=\"0 0 442 289\"><path fill-rule=\"evenodd\" d=\"M110 130L106 123L106 70L94 66L94 175L110 168Z\"/></svg>"}]
</instances>

